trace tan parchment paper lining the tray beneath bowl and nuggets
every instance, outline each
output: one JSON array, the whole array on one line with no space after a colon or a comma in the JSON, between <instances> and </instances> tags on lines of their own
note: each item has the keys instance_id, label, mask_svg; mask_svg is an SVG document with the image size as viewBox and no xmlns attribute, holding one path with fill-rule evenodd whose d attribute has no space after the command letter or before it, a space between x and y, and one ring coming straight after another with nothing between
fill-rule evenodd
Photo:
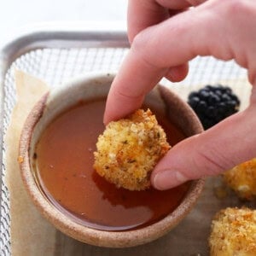
<instances>
[{"instance_id":1,"label":"tan parchment paper lining the tray beneath bowl and nuggets","mask_svg":"<svg viewBox=\"0 0 256 256\"><path fill-rule=\"evenodd\" d=\"M15 78L17 104L5 137L7 146L6 182L10 194L12 255L208 255L207 237L209 236L213 215L224 207L245 204L255 207L253 202L239 201L236 195L223 186L220 177L211 177L207 179L201 198L192 212L168 235L157 241L139 247L113 249L86 245L63 235L42 218L38 210L32 205L32 201L26 194L21 181L17 163L22 125L34 103L48 90L47 85L19 71L16 72ZM225 84L229 85L227 81L225 81ZM251 87L247 82L241 88L236 88L235 92L241 98L243 109L247 107L250 90ZM179 87L177 92L186 97L189 88Z\"/></svg>"}]
</instances>

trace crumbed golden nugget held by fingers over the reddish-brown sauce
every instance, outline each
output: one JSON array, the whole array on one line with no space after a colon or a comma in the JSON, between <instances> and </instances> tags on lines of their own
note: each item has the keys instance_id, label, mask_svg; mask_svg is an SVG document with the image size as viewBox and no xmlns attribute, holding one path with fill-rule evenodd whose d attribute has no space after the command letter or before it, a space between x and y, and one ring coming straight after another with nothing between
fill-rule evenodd
<instances>
[{"instance_id":1,"label":"crumbed golden nugget held by fingers over the reddish-brown sauce","mask_svg":"<svg viewBox=\"0 0 256 256\"><path fill-rule=\"evenodd\" d=\"M148 189L150 174L170 147L166 133L148 109L110 122L96 143L96 172L117 187Z\"/></svg>"}]
</instances>

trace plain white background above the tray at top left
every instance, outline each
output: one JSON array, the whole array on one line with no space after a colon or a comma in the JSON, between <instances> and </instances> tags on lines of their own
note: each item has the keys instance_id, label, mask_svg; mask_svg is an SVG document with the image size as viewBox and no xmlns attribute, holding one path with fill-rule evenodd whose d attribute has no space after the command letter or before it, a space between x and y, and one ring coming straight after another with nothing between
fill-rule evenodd
<instances>
[{"instance_id":1,"label":"plain white background above the tray at top left","mask_svg":"<svg viewBox=\"0 0 256 256\"><path fill-rule=\"evenodd\" d=\"M0 0L0 44L49 21L126 20L128 0Z\"/></svg>"}]
</instances>

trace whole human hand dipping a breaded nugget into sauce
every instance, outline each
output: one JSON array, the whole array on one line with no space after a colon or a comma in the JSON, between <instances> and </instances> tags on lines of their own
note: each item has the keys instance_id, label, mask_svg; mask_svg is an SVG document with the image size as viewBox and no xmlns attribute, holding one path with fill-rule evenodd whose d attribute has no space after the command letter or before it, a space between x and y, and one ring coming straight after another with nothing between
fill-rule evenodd
<instances>
[{"instance_id":1,"label":"whole human hand dipping a breaded nugget into sauce","mask_svg":"<svg viewBox=\"0 0 256 256\"><path fill-rule=\"evenodd\" d=\"M177 3L177 0L158 2ZM186 1L178 2L185 4ZM131 1L131 4L136 3ZM143 23L139 14L136 16L140 22L136 23L136 18L134 21L128 19L131 50L109 92L105 123L140 108L145 94L164 76L173 81L183 79L186 75L184 63L196 55L212 55L224 61L234 59L247 68L251 84L256 83L255 1L208 0L171 18L167 13L160 15L157 9L153 7L148 11L154 14L156 10L152 23ZM150 26L157 22L160 23ZM145 26L148 28L144 29ZM139 32L141 29L143 31ZM160 160L151 176L154 187L169 189L189 179L224 172L252 159L256 152L255 111L253 86L250 106L246 110L224 119L201 135L183 140Z\"/></svg>"}]
</instances>

